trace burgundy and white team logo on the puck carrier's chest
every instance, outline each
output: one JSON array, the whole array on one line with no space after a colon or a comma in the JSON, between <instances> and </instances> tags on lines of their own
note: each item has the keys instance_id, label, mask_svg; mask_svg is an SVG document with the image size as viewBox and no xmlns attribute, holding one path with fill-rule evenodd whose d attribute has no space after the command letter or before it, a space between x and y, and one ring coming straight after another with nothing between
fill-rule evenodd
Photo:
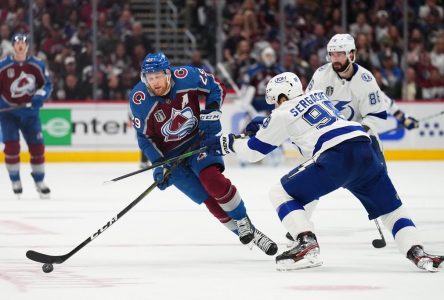
<instances>
[{"instance_id":1,"label":"burgundy and white team logo on the puck carrier's chest","mask_svg":"<svg viewBox=\"0 0 444 300\"><path fill-rule=\"evenodd\" d=\"M182 110L171 110L171 117L163 124L160 131L165 137L165 142L178 141L192 132L197 127L197 118L191 107Z\"/></svg>"}]
</instances>

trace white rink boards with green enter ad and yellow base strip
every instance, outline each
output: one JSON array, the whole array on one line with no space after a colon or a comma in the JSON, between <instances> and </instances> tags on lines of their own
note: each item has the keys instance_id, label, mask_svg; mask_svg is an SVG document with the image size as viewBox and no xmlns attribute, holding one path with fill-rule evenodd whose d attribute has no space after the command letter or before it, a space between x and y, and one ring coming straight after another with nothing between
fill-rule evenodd
<instances>
[{"instance_id":1,"label":"white rink boards with green enter ad and yellow base strip","mask_svg":"<svg viewBox=\"0 0 444 300\"><path fill-rule=\"evenodd\" d=\"M400 108L422 120L420 127L403 128L381 136L388 160L444 160L444 102L400 103ZM136 161L139 151L126 102L48 103L41 111L48 162ZM426 120L424 120L426 119ZM228 99L224 104L224 132L239 133L249 121L242 104ZM389 117L380 132L396 128ZM286 145L288 158L300 157ZM22 141L22 161L29 161ZM0 154L4 160L4 154Z\"/></svg>"}]
</instances>

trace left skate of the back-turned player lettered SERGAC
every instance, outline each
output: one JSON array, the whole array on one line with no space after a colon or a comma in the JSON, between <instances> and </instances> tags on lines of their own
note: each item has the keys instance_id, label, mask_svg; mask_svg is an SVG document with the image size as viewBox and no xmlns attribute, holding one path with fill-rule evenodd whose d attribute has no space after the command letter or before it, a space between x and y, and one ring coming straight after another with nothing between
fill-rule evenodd
<instances>
[{"instance_id":1,"label":"left skate of the back-turned player lettered SERGAC","mask_svg":"<svg viewBox=\"0 0 444 300\"><path fill-rule=\"evenodd\" d=\"M296 242L295 247L276 256L278 271L314 268L322 265L319 245L314 233L302 232L297 236Z\"/></svg>"}]
</instances>

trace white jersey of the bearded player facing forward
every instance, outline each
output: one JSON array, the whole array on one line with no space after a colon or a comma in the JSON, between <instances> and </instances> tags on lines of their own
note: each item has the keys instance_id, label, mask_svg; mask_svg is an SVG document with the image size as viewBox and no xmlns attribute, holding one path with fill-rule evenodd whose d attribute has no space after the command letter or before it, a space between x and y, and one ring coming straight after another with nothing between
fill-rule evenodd
<instances>
[{"instance_id":1,"label":"white jersey of the bearded player facing forward","mask_svg":"<svg viewBox=\"0 0 444 300\"><path fill-rule=\"evenodd\" d=\"M331 63L318 68L307 91L322 90L349 121L356 121L378 132L387 119L391 101L386 99L376 79L367 69L353 63L353 76L342 79Z\"/></svg>"}]
</instances>

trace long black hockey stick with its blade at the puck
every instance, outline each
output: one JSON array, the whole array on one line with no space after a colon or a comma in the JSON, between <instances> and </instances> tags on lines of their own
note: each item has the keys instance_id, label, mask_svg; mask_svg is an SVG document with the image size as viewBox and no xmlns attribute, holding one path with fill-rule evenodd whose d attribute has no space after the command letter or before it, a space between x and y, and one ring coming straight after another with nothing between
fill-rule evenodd
<instances>
[{"instance_id":1,"label":"long black hockey stick with its blade at the puck","mask_svg":"<svg viewBox=\"0 0 444 300\"><path fill-rule=\"evenodd\" d=\"M197 141L199 142L200 139ZM197 142L193 143L189 149L192 149L196 146ZM165 173L165 178L167 178L172 170L174 170L182 160L176 160L173 166ZM125 215L131 208L133 208L137 203L139 203L143 198L145 198L154 188L157 186L157 182L153 182L145 191L142 192L136 199L134 199L128 206L126 206L121 212L119 212L115 217L113 217L111 220L109 220L104 226L99 228L95 233L93 233L90 237L88 237L86 240L84 240L81 244L79 244L77 247L75 247L73 250L71 250L69 253L64 255L48 255L44 253L40 253L34 250L28 250L26 252L26 257L30 260L43 263L42 270L45 273L50 273L54 269L53 264L61 264L65 262L67 259L69 259L71 256L73 256L75 253L77 253L79 250L81 250L83 247L88 245L93 239L98 237L100 234L102 234L106 229L111 227L114 223L117 222L123 215Z\"/></svg>"}]
</instances>

